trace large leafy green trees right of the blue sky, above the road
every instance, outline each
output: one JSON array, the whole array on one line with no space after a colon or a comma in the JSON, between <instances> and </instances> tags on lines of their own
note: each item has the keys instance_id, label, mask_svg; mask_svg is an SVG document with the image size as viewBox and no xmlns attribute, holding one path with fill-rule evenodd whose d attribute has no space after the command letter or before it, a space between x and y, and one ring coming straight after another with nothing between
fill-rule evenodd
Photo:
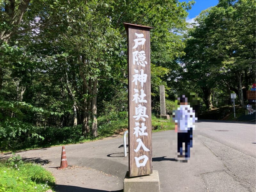
<instances>
[{"instance_id":1,"label":"large leafy green trees right of the blue sky, above the road","mask_svg":"<svg viewBox=\"0 0 256 192\"><path fill-rule=\"evenodd\" d=\"M220 0L188 29L183 77L201 89L206 108L217 87L244 106L243 87L255 80L255 8L252 0Z\"/></svg>"}]
</instances>

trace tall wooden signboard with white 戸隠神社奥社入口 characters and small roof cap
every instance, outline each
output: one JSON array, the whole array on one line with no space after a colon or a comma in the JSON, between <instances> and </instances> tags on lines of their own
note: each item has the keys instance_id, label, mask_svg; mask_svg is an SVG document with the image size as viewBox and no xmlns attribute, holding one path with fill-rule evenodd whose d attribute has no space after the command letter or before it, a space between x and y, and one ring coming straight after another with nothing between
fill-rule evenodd
<instances>
[{"instance_id":1,"label":"tall wooden signboard with white \u6238\u96a0\u795e\u793e\u5965\u793e\u5165\u53e3 characters and small roof cap","mask_svg":"<svg viewBox=\"0 0 256 192\"><path fill-rule=\"evenodd\" d=\"M128 34L129 176L152 174L150 32L124 23Z\"/></svg>"}]
</instances>

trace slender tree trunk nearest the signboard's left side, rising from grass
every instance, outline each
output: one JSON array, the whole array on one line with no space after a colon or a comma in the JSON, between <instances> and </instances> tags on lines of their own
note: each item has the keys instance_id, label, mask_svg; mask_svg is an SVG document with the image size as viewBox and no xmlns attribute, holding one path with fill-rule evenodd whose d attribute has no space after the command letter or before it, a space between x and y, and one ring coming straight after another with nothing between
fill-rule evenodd
<instances>
[{"instance_id":1,"label":"slender tree trunk nearest the signboard's left side, rising from grass","mask_svg":"<svg viewBox=\"0 0 256 192\"><path fill-rule=\"evenodd\" d=\"M98 79L93 81L93 88L92 88L92 136L98 136L98 126L97 126L97 93L98 93Z\"/></svg>"}]
</instances>

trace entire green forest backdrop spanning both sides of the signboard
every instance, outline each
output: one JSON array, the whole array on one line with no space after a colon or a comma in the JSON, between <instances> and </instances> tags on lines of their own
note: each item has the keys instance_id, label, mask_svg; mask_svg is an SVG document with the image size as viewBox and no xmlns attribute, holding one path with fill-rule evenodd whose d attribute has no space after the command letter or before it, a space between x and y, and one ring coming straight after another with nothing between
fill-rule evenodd
<instances>
[{"instance_id":1,"label":"entire green forest backdrop spanning both sides of the signboard","mask_svg":"<svg viewBox=\"0 0 256 192\"><path fill-rule=\"evenodd\" d=\"M1 0L0 151L83 142L127 128L123 22L154 27L153 114L160 112L159 85L169 114L183 91L198 94L200 113L231 105L232 92L244 107L255 83L256 3L220 0L189 24L194 3Z\"/></svg>"}]
</instances>

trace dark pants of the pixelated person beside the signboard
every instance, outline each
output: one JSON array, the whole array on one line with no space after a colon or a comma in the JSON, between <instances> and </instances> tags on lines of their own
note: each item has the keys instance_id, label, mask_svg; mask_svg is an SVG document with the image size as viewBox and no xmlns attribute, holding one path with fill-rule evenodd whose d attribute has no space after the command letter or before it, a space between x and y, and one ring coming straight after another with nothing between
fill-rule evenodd
<instances>
[{"instance_id":1,"label":"dark pants of the pixelated person beside the signboard","mask_svg":"<svg viewBox=\"0 0 256 192\"><path fill-rule=\"evenodd\" d=\"M190 148L193 143L193 129L190 128L188 132L179 133L178 132L178 153L182 155L182 143L185 143L185 157L190 157Z\"/></svg>"}]
</instances>

